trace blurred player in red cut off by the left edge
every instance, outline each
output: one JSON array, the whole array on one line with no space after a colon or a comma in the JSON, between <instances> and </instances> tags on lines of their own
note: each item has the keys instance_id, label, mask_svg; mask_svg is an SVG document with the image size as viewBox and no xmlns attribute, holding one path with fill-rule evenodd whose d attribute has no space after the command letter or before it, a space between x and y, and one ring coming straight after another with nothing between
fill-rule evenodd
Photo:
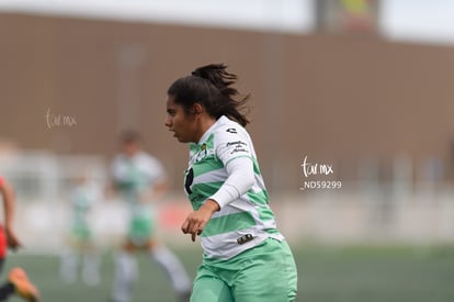
<instances>
[{"instance_id":1,"label":"blurred player in red cut off by the left edge","mask_svg":"<svg viewBox=\"0 0 454 302\"><path fill-rule=\"evenodd\" d=\"M14 191L9 182L0 176L0 193L3 200L4 225L0 225L0 271L3 268L7 257L7 248L16 249L21 244L12 228L14 215ZM8 298L16 293L26 301L38 301L38 291L33 286L25 271L21 268L13 268L8 273L8 282L0 286L0 301L7 301Z\"/></svg>"}]
</instances>

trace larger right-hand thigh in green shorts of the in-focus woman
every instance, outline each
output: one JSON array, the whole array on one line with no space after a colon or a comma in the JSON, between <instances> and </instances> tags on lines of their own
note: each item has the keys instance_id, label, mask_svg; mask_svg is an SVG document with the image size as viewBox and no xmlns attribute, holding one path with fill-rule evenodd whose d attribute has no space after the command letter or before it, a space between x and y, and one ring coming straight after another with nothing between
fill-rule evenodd
<instances>
[{"instance_id":1,"label":"larger right-hand thigh in green shorts of the in-focus woman","mask_svg":"<svg viewBox=\"0 0 454 302\"><path fill-rule=\"evenodd\" d=\"M269 239L237 276L235 301L291 302L296 298L296 265L285 242Z\"/></svg>"}]
</instances>

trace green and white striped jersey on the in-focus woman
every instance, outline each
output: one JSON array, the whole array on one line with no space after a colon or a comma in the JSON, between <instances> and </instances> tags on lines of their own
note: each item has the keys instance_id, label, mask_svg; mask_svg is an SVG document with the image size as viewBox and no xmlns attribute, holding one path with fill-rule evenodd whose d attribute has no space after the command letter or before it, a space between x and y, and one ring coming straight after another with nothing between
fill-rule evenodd
<instances>
[{"instance_id":1,"label":"green and white striped jersey on the in-focus woman","mask_svg":"<svg viewBox=\"0 0 454 302\"><path fill-rule=\"evenodd\" d=\"M238 199L214 213L201 234L207 258L229 259L264 239L282 241L268 202L252 141L247 131L226 116L219 118L202 136L190 144L184 188L194 210L215 194L228 178L226 166L236 158L253 163L254 183Z\"/></svg>"}]
</instances>

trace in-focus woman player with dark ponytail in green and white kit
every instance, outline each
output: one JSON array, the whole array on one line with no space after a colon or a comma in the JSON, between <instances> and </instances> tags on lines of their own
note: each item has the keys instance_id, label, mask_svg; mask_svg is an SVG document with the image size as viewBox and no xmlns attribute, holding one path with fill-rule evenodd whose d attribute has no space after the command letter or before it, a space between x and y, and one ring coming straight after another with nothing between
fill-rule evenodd
<instances>
[{"instance_id":1,"label":"in-focus woman player with dark ponytail in green and white kit","mask_svg":"<svg viewBox=\"0 0 454 302\"><path fill-rule=\"evenodd\" d=\"M184 188L194 211L182 231L201 236L204 249L191 301L294 301L295 261L269 206L236 80L225 65L207 65L168 89L166 126L190 143Z\"/></svg>"}]
</instances>

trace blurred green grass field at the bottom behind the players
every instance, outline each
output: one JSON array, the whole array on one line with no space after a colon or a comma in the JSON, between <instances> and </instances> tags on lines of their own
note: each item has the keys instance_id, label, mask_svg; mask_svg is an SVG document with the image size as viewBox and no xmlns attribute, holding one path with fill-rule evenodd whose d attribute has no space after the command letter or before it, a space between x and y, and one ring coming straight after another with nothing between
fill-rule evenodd
<instances>
[{"instance_id":1,"label":"blurred green grass field at the bottom behind the players","mask_svg":"<svg viewBox=\"0 0 454 302\"><path fill-rule=\"evenodd\" d=\"M192 276L200 249L174 249ZM298 266L299 302L450 302L454 301L452 247L315 247L294 248ZM160 268L138 256L140 277L135 302L170 302L175 295ZM11 255L7 268L21 266L39 287L44 302L107 301L113 257L103 257L102 283L68 286L58 276L55 256ZM11 301L21 301L18 298ZM209 302L209 301L207 301ZM260 301L258 301L260 302Z\"/></svg>"}]
</instances>

